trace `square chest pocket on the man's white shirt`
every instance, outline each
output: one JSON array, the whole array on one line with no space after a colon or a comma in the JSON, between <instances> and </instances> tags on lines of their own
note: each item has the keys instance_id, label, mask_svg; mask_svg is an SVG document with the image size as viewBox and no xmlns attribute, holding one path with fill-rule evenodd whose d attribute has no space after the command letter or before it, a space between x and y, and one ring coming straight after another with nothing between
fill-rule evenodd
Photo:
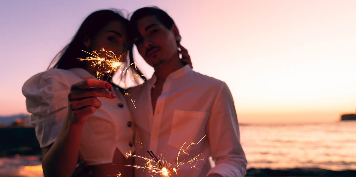
<instances>
[{"instance_id":1,"label":"square chest pocket on the man's white shirt","mask_svg":"<svg viewBox=\"0 0 356 177\"><path fill-rule=\"evenodd\" d=\"M205 111L174 110L168 145L180 149L184 142L185 145L197 143L206 134L208 115Z\"/></svg>"}]
</instances>

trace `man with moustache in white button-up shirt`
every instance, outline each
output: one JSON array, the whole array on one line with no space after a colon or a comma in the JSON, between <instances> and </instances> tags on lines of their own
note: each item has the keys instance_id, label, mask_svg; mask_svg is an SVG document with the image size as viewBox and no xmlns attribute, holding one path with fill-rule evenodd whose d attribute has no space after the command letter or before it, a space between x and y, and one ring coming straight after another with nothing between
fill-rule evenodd
<instances>
[{"instance_id":1,"label":"man with moustache in white button-up shirt","mask_svg":"<svg viewBox=\"0 0 356 177\"><path fill-rule=\"evenodd\" d=\"M135 155L150 157L147 150L156 156L162 154L163 160L172 164L170 168L184 162L177 168L178 176L182 177L244 176L247 161L227 85L184 66L179 53L189 56L180 46L178 28L166 12L144 7L133 13L130 23L138 52L155 69L151 79L129 90L136 99L136 107L130 106L135 138L142 143L136 143ZM132 101L129 96L126 98ZM197 158L204 159L206 164L203 160L189 162L200 153ZM215 161L213 168L209 156ZM158 159L163 162L160 155ZM135 163L144 165L140 161ZM136 170L135 175L149 176L149 172Z\"/></svg>"}]
</instances>

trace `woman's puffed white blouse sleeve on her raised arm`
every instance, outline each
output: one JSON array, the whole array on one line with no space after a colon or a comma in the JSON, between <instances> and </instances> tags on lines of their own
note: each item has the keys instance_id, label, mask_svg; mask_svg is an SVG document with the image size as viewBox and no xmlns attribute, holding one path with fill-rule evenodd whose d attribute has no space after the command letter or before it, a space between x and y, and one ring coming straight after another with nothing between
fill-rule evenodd
<instances>
[{"instance_id":1,"label":"woman's puffed white blouse sleeve on her raised arm","mask_svg":"<svg viewBox=\"0 0 356 177\"><path fill-rule=\"evenodd\" d=\"M61 71L51 69L32 76L22 87L41 148L54 143L59 134L68 112L70 85Z\"/></svg>"}]
</instances>

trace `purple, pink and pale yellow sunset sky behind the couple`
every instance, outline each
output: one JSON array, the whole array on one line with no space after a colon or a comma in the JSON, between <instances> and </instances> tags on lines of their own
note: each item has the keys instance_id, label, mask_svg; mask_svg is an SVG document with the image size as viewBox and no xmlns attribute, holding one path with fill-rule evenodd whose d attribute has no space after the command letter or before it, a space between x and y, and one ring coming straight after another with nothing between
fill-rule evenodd
<instances>
[{"instance_id":1,"label":"purple, pink and pale yellow sunset sky behind the couple","mask_svg":"<svg viewBox=\"0 0 356 177\"><path fill-rule=\"evenodd\" d=\"M46 70L91 12L148 5L172 16L195 71L229 85L240 123L331 122L355 113L353 0L2 0L0 116L26 113L23 83Z\"/></svg>"}]
</instances>

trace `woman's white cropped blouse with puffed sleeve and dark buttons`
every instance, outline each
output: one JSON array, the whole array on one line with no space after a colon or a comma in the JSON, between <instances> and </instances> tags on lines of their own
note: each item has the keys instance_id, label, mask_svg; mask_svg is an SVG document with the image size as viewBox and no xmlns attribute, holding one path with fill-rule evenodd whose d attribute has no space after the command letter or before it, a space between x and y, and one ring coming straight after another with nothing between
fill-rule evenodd
<instances>
[{"instance_id":1,"label":"woman's white cropped blouse with puffed sleeve and dark buttons","mask_svg":"<svg viewBox=\"0 0 356 177\"><path fill-rule=\"evenodd\" d=\"M30 123L35 126L41 148L56 140L68 112L70 86L84 79L95 77L81 68L49 69L32 76L23 85ZM112 163L116 148L124 155L135 151L129 145L133 142L133 129L128 126L131 115L124 96L118 89L110 91L116 98L98 97L101 107L83 124L80 153L88 165Z\"/></svg>"}]
</instances>

